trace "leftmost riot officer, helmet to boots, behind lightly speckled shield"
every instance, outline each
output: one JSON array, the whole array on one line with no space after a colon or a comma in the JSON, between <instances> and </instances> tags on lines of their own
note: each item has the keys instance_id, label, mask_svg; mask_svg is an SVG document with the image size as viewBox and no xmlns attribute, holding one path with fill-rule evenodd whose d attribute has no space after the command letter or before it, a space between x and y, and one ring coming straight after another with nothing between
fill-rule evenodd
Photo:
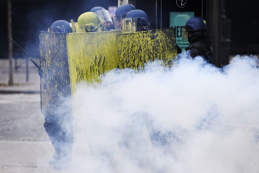
<instances>
[{"instance_id":1,"label":"leftmost riot officer, helmet to boots, behind lightly speckled shield","mask_svg":"<svg viewBox=\"0 0 259 173\"><path fill-rule=\"evenodd\" d=\"M44 108L43 125L55 149L52 159L48 161L50 165L54 165L54 169L68 168L72 160L73 115L66 41L61 39L64 42L59 42L60 40L55 39L59 37L54 36L61 34L65 37L67 33L71 32L72 28L67 21L57 20L52 23L48 32L44 33L46 37L40 35L40 40L43 40L40 42L41 70L39 70L41 83L43 83L41 106L45 104L45 100L48 100ZM56 49L60 50L51 52L56 46L56 42L59 42L60 45ZM61 45L64 48L61 48ZM50 53L46 56L48 52ZM49 59L47 60L47 58Z\"/></svg>"}]
</instances>

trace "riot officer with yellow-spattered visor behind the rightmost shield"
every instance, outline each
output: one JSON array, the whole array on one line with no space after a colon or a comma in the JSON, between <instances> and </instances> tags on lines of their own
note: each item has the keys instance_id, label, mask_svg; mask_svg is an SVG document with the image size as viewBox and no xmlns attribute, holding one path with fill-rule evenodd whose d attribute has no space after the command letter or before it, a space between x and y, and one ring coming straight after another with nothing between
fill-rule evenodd
<instances>
[{"instance_id":1,"label":"riot officer with yellow-spattered visor behind the rightmost shield","mask_svg":"<svg viewBox=\"0 0 259 173\"><path fill-rule=\"evenodd\" d=\"M155 31L151 31L151 30L153 30L153 29L150 27L149 22L148 22L148 16L144 11L132 10L127 13L127 16L123 23L124 32L126 32L126 33L141 32L141 31L155 32ZM144 33L141 38L142 38L142 40L144 40ZM144 46L142 46L142 47L144 47ZM153 48L155 48L155 47L153 47ZM170 146L169 138L172 137L172 134L169 131L162 132L160 129L156 128L155 123L154 123L155 122L154 117L152 117L147 112L138 112L136 114L138 114L138 117L142 117L142 119L139 119L138 123L136 123L136 125L134 125L135 126L134 129L138 129L139 131L137 132L136 130L132 130L132 132L142 134L142 133L140 133L140 130L143 128L144 124L146 125L146 129L149 133L150 140L152 143L152 151L153 151L153 159L152 159L153 163L151 164L151 168L154 172L162 172L161 167L159 167L159 165L156 164L159 162L156 162L157 155L155 153L157 151L161 151L161 150L165 150L165 152L168 152L167 148L169 148L169 146ZM137 139L136 141L137 141L138 145L144 146L144 144L141 144L141 143L143 143L143 140L142 140L142 137L139 136L139 134L134 134L132 136L136 136L135 138ZM144 148L142 148L142 151L139 151L139 148L140 147L137 148L138 153L141 153L142 155L144 155L144 152L143 152ZM136 148L134 148L134 149L136 149ZM143 162L143 158L145 158L145 157L142 157L142 160L139 160L139 163L142 162L142 163L146 164L146 166L148 166L148 163ZM143 165L143 166L145 166L145 165Z\"/></svg>"}]
</instances>

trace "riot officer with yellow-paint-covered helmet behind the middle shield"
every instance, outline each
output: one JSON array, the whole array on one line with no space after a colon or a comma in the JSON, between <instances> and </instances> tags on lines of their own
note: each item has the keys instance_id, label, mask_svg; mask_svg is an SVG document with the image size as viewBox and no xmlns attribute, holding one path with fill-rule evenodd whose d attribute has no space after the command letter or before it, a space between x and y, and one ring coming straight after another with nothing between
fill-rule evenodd
<instances>
[{"instance_id":1,"label":"riot officer with yellow-paint-covered helmet behind the middle shield","mask_svg":"<svg viewBox=\"0 0 259 173\"><path fill-rule=\"evenodd\" d=\"M85 33L87 35L95 35L94 32L102 32L105 29L102 19L94 12L85 12L81 14L78 17L75 26L77 33ZM97 38L99 39L101 37ZM100 47L102 46L100 45ZM89 54L91 53L84 54L86 56L84 58L88 59L91 57ZM87 69L87 71L91 71L91 69ZM93 78L98 78L98 76L94 76L93 78L91 77L93 76L88 76L85 80L90 82ZM85 121L85 135L89 152L91 153L91 157L89 159L98 160L102 166L109 167L111 166L114 157L114 136L111 129L100 122L101 121L96 119L96 117L88 118ZM98 137L100 135L102 136L102 140L106 142L100 142L100 137Z\"/></svg>"}]
</instances>

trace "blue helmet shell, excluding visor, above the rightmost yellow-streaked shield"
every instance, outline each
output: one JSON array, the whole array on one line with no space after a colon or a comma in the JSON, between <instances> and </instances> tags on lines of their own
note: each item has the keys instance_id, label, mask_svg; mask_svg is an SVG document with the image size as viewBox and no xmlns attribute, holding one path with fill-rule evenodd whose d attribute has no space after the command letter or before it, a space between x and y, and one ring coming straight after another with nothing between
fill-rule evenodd
<instances>
[{"instance_id":1,"label":"blue helmet shell, excluding visor, above the rightmost yellow-streaked shield","mask_svg":"<svg viewBox=\"0 0 259 173\"><path fill-rule=\"evenodd\" d=\"M142 26L142 28L145 31L153 30L149 25L148 25L148 16L146 12L143 10L131 10L128 12L126 19L125 20L130 20L130 19L136 19L138 25ZM137 26L138 28L139 26ZM138 31L138 29L136 30Z\"/></svg>"}]
</instances>

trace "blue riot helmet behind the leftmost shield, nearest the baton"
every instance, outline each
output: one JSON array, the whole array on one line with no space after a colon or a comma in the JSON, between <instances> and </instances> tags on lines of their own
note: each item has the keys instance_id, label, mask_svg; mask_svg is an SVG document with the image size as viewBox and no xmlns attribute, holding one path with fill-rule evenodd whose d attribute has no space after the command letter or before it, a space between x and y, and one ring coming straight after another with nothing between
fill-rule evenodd
<instances>
[{"instance_id":1,"label":"blue riot helmet behind the leftmost shield, nearest the baton","mask_svg":"<svg viewBox=\"0 0 259 173\"><path fill-rule=\"evenodd\" d=\"M48 31L56 33L72 33L72 27L70 23L65 20L57 20L52 23Z\"/></svg>"}]
</instances>

